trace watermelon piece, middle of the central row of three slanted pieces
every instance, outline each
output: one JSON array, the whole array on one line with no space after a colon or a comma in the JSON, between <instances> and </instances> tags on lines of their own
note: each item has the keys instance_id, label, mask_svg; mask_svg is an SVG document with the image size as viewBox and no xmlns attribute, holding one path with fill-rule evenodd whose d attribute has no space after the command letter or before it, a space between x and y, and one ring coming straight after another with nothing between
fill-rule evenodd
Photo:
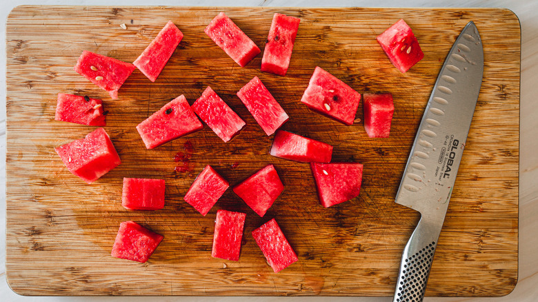
<instances>
[{"instance_id":1,"label":"watermelon piece, middle of the central row of three slanted pieces","mask_svg":"<svg viewBox=\"0 0 538 302\"><path fill-rule=\"evenodd\" d=\"M192 110L208 124L225 143L243 128L245 122L209 86L192 104Z\"/></svg>"}]
</instances>

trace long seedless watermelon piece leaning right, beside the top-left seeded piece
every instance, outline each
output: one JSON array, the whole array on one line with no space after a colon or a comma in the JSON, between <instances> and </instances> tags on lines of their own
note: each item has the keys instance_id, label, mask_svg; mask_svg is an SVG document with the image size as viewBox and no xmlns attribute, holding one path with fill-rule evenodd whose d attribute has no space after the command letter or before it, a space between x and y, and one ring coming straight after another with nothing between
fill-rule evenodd
<instances>
[{"instance_id":1,"label":"long seedless watermelon piece leaning right, beside the top-left seeded piece","mask_svg":"<svg viewBox=\"0 0 538 302\"><path fill-rule=\"evenodd\" d=\"M155 82L181 39L183 39L181 30L172 21L168 21L157 37L132 64L137 66L150 81Z\"/></svg>"}]
</instances>

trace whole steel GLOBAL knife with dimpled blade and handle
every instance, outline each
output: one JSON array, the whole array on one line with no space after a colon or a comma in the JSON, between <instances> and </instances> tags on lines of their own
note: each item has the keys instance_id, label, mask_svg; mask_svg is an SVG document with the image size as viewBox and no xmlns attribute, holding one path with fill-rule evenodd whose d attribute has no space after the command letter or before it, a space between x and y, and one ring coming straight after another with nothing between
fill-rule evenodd
<instances>
[{"instance_id":1,"label":"whole steel GLOBAL knife with dimpled blade and handle","mask_svg":"<svg viewBox=\"0 0 538 302\"><path fill-rule=\"evenodd\" d=\"M421 218L401 255L394 302L424 299L483 72L482 41L471 21L439 72L397 192L396 202Z\"/></svg>"}]
</instances>

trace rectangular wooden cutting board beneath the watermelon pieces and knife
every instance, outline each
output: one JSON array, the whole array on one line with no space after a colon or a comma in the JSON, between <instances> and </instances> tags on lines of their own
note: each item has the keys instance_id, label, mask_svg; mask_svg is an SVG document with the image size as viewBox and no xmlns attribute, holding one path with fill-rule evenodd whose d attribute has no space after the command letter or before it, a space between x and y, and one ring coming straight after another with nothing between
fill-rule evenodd
<instances>
[{"instance_id":1,"label":"rectangular wooden cutting board beneath the watermelon pieces and knife","mask_svg":"<svg viewBox=\"0 0 538 302\"><path fill-rule=\"evenodd\" d=\"M240 68L203 29L225 11L263 50L275 12L301 18L286 77L260 72L261 55ZM425 57L401 74L375 37L405 19ZM185 34L161 76L138 70L119 100L74 72L82 50L132 62L166 21ZM390 296L401 250L419 214L394 202L408 152L442 63L460 30L475 21L484 41L484 82L433 261L427 296L501 296L517 283L520 27L503 9L173 8L19 6L7 24L7 242L10 286L27 295ZM120 27L126 24L126 29ZM361 121L346 126L300 102L316 66L363 92L392 92L388 139L370 139ZM290 115L284 130L334 146L333 161L364 164L359 197L323 208L307 164L271 157L267 137L235 93L258 76ZM185 94L211 85L247 122L229 143L207 126L146 150L135 126ZM102 98L106 131L121 165L87 185L54 146L94 128L54 121L56 95ZM362 118L362 110L357 112ZM194 153L186 172L174 161ZM205 165L232 185L272 163L286 186L261 218L228 190L206 217L182 197ZM166 206L121 207L123 177L166 179ZM241 259L211 257L215 212L247 214ZM299 261L275 274L250 232L276 218ZM115 259L121 221L163 234L145 264Z\"/></svg>"}]
</instances>

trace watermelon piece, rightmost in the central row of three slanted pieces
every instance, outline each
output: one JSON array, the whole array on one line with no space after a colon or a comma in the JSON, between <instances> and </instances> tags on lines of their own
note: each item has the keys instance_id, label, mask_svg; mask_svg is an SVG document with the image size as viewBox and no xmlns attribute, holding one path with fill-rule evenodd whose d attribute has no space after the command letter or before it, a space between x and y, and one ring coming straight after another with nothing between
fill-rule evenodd
<instances>
[{"instance_id":1,"label":"watermelon piece, rightmost in the central row of three slanted pieces","mask_svg":"<svg viewBox=\"0 0 538 302\"><path fill-rule=\"evenodd\" d=\"M267 135L271 135L288 121L288 114L282 109L277 100L272 97L266 86L258 77L250 80L237 92L252 117Z\"/></svg>"}]
</instances>

